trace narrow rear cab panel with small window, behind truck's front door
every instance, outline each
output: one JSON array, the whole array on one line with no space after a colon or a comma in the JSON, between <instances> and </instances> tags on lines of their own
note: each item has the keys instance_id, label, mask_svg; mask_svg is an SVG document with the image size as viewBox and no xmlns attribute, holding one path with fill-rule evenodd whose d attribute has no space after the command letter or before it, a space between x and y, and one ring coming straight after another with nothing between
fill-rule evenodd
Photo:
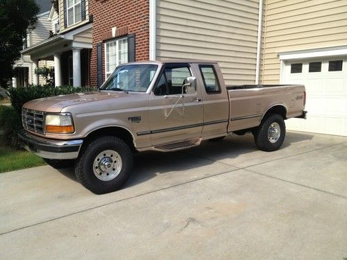
<instances>
[{"instance_id":1,"label":"narrow rear cab panel with small window, behind truck's front door","mask_svg":"<svg viewBox=\"0 0 347 260\"><path fill-rule=\"evenodd\" d=\"M217 63L196 64L198 89L203 99L203 137L226 134L229 98Z\"/></svg>"}]
</instances>

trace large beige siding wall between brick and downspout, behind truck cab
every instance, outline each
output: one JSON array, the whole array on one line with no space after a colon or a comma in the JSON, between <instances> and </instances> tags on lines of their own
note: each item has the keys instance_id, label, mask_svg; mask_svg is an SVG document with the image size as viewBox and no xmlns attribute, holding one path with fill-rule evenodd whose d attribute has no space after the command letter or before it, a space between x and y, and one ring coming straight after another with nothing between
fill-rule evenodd
<instances>
[{"instance_id":1,"label":"large beige siding wall between brick and downspout, behind truck cab","mask_svg":"<svg viewBox=\"0 0 347 260\"><path fill-rule=\"evenodd\" d=\"M216 60L227 84L255 81L259 1L160 0L157 59Z\"/></svg>"}]
</instances>

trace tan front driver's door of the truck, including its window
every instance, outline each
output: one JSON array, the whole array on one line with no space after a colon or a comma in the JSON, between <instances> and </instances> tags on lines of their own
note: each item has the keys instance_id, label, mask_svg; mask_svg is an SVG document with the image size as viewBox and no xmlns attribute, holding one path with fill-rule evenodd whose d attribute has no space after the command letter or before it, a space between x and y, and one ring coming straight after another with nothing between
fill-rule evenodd
<instances>
[{"instance_id":1,"label":"tan front driver's door of the truck, including its window","mask_svg":"<svg viewBox=\"0 0 347 260\"><path fill-rule=\"evenodd\" d=\"M189 64L164 64L149 101L151 142L171 144L201 137L203 105L200 89L182 94L183 81L194 76Z\"/></svg>"}]
</instances>

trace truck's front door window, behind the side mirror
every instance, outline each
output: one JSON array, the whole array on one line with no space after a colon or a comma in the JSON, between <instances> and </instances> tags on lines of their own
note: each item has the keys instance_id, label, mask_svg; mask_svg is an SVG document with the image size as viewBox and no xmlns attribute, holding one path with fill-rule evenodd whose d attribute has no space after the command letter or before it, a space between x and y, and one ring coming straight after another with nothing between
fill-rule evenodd
<instances>
[{"instance_id":1,"label":"truck's front door window, behind the side mirror","mask_svg":"<svg viewBox=\"0 0 347 260\"><path fill-rule=\"evenodd\" d=\"M188 65L167 66L154 89L156 96L182 94L182 86L185 78L192 76Z\"/></svg>"}]
</instances>

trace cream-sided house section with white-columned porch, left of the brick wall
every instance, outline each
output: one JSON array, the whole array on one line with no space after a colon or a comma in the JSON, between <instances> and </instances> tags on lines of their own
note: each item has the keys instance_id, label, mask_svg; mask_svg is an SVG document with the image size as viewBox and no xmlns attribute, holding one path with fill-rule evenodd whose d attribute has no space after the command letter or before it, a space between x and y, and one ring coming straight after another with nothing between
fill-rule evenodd
<instances>
[{"instance_id":1,"label":"cream-sided house section with white-columned porch, left of the brick wall","mask_svg":"<svg viewBox=\"0 0 347 260\"><path fill-rule=\"evenodd\" d=\"M33 69L42 60L54 67L54 82L59 85L90 85L90 53L92 49L92 18L88 0L56 0L47 17L52 37L28 46L22 51L30 55ZM34 76L33 84L39 82Z\"/></svg>"}]
</instances>

